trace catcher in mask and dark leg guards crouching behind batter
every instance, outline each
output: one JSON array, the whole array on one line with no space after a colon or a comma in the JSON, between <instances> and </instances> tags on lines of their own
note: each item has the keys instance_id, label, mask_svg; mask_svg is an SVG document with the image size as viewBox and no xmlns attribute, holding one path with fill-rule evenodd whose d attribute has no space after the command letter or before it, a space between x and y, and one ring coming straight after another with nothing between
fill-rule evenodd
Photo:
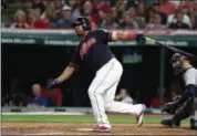
<instances>
[{"instance_id":1,"label":"catcher in mask and dark leg guards crouching behind batter","mask_svg":"<svg viewBox=\"0 0 197 136\"><path fill-rule=\"evenodd\" d=\"M185 92L179 100L164 106L163 112L174 114L174 116L162 121L162 124L178 127L183 119L191 116L190 128L197 129L197 113L195 115L195 109L197 111L197 70L186 56L179 53L173 55L172 64L176 74L183 73L184 75Z\"/></svg>"}]
</instances>

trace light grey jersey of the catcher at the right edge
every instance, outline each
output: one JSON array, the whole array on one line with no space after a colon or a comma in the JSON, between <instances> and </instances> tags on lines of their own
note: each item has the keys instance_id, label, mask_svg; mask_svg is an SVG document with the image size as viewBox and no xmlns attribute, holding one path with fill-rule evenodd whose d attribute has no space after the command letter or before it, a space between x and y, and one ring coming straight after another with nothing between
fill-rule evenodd
<instances>
[{"instance_id":1,"label":"light grey jersey of the catcher at the right edge","mask_svg":"<svg viewBox=\"0 0 197 136\"><path fill-rule=\"evenodd\" d=\"M194 84L197 85L197 70L195 67L189 67L184 73L185 85Z\"/></svg>"}]
</instances>

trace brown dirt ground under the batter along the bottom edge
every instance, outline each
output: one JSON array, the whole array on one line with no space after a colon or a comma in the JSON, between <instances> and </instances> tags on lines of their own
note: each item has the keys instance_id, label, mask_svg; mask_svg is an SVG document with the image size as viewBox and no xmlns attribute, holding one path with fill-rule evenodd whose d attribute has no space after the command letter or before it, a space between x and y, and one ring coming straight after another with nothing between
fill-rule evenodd
<instances>
[{"instance_id":1,"label":"brown dirt ground under the batter along the bottom edge","mask_svg":"<svg viewBox=\"0 0 197 136\"><path fill-rule=\"evenodd\" d=\"M194 135L197 130L189 126L166 128L159 124L113 124L111 133L80 132L79 128L91 128L95 124L86 123L2 123L2 134L45 134L45 135Z\"/></svg>"}]
</instances>

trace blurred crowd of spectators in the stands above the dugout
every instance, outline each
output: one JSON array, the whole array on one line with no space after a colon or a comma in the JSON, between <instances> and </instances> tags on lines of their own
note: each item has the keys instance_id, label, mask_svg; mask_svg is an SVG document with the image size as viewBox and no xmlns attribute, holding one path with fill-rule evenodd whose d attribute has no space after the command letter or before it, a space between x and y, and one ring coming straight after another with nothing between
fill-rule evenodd
<instances>
[{"instance_id":1,"label":"blurred crowd of spectators in the stands above the dugout","mask_svg":"<svg viewBox=\"0 0 197 136\"><path fill-rule=\"evenodd\" d=\"M83 15L93 29L197 29L197 0L2 1L2 28L70 29ZM17 1L23 7L8 21L6 11Z\"/></svg>"}]
</instances>

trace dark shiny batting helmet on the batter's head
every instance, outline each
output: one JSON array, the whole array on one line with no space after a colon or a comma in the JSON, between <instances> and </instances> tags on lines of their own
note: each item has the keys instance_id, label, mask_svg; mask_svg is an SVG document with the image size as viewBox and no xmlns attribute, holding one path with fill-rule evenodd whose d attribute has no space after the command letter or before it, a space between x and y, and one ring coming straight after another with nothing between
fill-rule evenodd
<instances>
[{"instance_id":1,"label":"dark shiny batting helmet on the batter's head","mask_svg":"<svg viewBox=\"0 0 197 136\"><path fill-rule=\"evenodd\" d=\"M90 31L91 30L91 22L87 18L79 17L75 22L73 23L73 27L82 25L83 30Z\"/></svg>"}]
</instances>

